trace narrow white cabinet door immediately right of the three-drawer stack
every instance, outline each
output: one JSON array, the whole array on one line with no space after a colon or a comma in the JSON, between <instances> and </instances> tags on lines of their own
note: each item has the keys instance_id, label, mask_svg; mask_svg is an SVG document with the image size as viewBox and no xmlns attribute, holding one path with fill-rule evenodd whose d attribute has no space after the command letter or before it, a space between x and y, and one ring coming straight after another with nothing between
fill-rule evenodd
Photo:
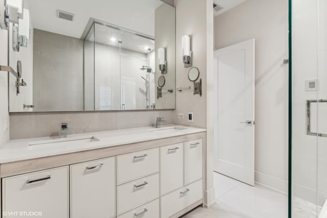
<instances>
[{"instance_id":1,"label":"narrow white cabinet door immediately right of the three-drawer stack","mask_svg":"<svg viewBox=\"0 0 327 218\"><path fill-rule=\"evenodd\" d=\"M160 195L183 187L183 143L160 148Z\"/></svg>"}]
</instances>

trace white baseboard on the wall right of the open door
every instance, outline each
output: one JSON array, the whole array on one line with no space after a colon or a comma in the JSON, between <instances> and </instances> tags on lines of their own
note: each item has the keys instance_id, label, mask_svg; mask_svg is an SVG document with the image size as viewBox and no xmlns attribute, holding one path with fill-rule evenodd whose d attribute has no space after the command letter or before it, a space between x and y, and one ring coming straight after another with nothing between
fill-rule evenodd
<instances>
[{"instance_id":1,"label":"white baseboard on the wall right of the open door","mask_svg":"<svg viewBox=\"0 0 327 218\"><path fill-rule=\"evenodd\" d=\"M283 195L288 195L288 181L279 179L264 173L254 172L254 181L256 184L265 186L267 188L273 189L277 192L283 193Z\"/></svg>"}]
</instances>

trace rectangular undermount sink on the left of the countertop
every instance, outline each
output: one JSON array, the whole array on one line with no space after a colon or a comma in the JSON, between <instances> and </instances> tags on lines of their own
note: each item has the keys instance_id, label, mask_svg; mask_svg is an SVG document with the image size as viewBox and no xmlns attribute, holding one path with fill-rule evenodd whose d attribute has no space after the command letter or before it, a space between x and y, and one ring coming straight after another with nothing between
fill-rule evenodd
<instances>
[{"instance_id":1,"label":"rectangular undermount sink on the left of the countertop","mask_svg":"<svg viewBox=\"0 0 327 218\"><path fill-rule=\"evenodd\" d=\"M29 143L29 146L69 146L76 143L89 143L94 141L100 141L94 136L79 137L79 138L60 138L48 141L36 141Z\"/></svg>"}]
</instances>

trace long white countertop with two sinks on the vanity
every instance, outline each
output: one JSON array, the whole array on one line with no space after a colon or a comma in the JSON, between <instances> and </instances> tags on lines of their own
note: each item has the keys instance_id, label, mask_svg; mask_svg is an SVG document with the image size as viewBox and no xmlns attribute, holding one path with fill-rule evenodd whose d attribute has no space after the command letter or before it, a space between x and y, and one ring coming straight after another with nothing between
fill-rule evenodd
<instances>
[{"instance_id":1,"label":"long white countertop with two sinks on the vanity","mask_svg":"<svg viewBox=\"0 0 327 218\"><path fill-rule=\"evenodd\" d=\"M185 128L182 130L169 130L172 127ZM166 130L165 130L166 129ZM153 131L159 130L159 131ZM165 131L160 131L165 130ZM123 144L136 143L141 141L149 141L160 138L168 138L180 135L188 135L199 132L205 132L205 129L195 127L184 127L177 125L167 125L160 128L145 127L124 130L113 130L105 132L93 132L68 135L67 138L60 137L42 137L42 138L28 138L11 140L0 149L0 163L8 163L20 160L28 160L33 158L40 158L46 156L54 156L60 154L81 152L93 149L101 149L112 146L121 146ZM29 146L34 143L57 142L66 141L69 139L83 139L87 137L95 137L99 141L93 142L79 142L79 143L56 143L56 144L42 144Z\"/></svg>"}]
</instances>

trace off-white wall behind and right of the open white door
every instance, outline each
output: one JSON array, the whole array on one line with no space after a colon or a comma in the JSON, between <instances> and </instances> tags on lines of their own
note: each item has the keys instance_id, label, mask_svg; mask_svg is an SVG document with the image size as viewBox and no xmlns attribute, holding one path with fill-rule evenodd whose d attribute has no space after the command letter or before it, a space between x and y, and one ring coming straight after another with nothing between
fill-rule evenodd
<instances>
[{"instance_id":1,"label":"off-white wall behind and right of the open white door","mask_svg":"<svg viewBox=\"0 0 327 218\"><path fill-rule=\"evenodd\" d=\"M255 38L255 181L288 192L288 1L250 0L215 17L215 49Z\"/></svg>"}]
</instances>

